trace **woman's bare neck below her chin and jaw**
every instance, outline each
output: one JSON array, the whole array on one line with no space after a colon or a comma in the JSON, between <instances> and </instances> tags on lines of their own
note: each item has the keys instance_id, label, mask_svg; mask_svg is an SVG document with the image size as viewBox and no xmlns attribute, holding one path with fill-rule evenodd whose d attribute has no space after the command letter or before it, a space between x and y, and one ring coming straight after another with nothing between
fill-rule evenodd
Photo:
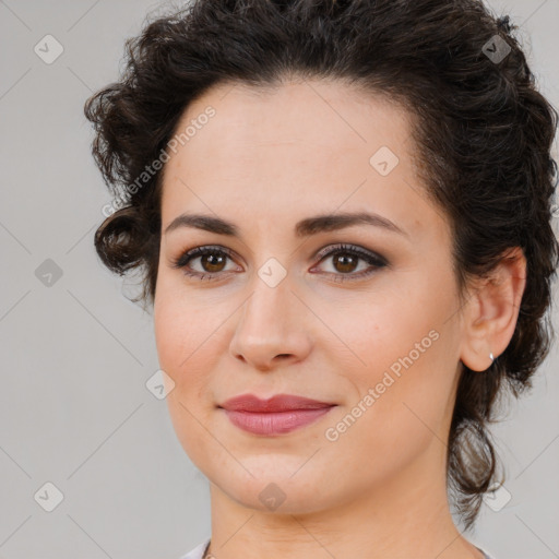
<instances>
[{"instance_id":1,"label":"woman's bare neck below her chin and jaw","mask_svg":"<svg viewBox=\"0 0 559 559\"><path fill-rule=\"evenodd\" d=\"M440 449L438 454L439 459L443 455ZM216 559L308 559L319 554L360 559L483 559L456 530L445 477L432 474L444 467L432 467L432 454L429 460L425 456L381 486L323 510L311 510L309 503L289 513L281 513L282 507L274 512L257 510L211 484L209 552Z\"/></svg>"}]
</instances>

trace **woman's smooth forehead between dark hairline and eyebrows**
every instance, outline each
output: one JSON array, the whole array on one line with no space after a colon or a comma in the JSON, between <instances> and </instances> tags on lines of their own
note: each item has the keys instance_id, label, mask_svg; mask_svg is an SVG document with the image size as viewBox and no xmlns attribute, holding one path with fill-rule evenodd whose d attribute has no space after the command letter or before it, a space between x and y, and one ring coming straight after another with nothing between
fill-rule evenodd
<instances>
[{"instance_id":1,"label":"woman's smooth forehead between dark hairline and eyebrows","mask_svg":"<svg viewBox=\"0 0 559 559\"><path fill-rule=\"evenodd\" d=\"M231 204L251 216L305 215L341 204L380 211L417 198L409 114L344 83L223 84L189 105L176 136L187 128L165 167L164 226L185 210L223 214ZM382 176L371 157L386 148L397 165Z\"/></svg>"}]
</instances>

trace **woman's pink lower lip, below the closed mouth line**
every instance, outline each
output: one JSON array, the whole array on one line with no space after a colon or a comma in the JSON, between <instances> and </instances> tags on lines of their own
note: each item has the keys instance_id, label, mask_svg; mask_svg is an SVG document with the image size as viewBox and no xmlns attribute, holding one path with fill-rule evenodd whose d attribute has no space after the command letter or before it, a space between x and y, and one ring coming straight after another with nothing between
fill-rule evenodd
<instances>
[{"instance_id":1,"label":"woman's pink lower lip, below the closed mouth line","mask_svg":"<svg viewBox=\"0 0 559 559\"><path fill-rule=\"evenodd\" d=\"M225 409L233 425L253 435L283 435L316 421L328 414L334 406L319 409L292 409L258 414L252 412L234 412Z\"/></svg>"}]
</instances>

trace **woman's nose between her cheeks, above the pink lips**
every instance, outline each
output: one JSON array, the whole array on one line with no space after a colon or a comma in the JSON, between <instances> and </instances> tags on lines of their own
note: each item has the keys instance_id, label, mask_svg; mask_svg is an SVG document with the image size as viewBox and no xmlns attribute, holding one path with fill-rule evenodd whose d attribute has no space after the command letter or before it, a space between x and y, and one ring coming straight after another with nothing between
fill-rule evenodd
<instances>
[{"instance_id":1,"label":"woman's nose between her cheeks, above the pink lips","mask_svg":"<svg viewBox=\"0 0 559 559\"><path fill-rule=\"evenodd\" d=\"M270 287L255 277L254 289L237 318L231 355L259 371L300 361L311 350L309 310L287 280Z\"/></svg>"}]
</instances>

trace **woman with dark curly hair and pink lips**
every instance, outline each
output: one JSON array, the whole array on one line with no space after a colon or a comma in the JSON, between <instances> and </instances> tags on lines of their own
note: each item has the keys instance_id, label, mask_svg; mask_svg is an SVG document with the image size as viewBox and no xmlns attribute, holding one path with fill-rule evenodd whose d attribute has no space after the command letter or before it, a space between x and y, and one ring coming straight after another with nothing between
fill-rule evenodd
<instances>
[{"instance_id":1,"label":"woman with dark curly hair and pink lips","mask_svg":"<svg viewBox=\"0 0 559 559\"><path fill-rule=\"evenodd\" d=\"M487 424L548 353L557 114L475 0L199 0L92 96L175 430L185 559L489 557ZM140 300L140 299L136 299ZM450 499L449 499L450 498Z\"/></svg>"}]
</instances>

